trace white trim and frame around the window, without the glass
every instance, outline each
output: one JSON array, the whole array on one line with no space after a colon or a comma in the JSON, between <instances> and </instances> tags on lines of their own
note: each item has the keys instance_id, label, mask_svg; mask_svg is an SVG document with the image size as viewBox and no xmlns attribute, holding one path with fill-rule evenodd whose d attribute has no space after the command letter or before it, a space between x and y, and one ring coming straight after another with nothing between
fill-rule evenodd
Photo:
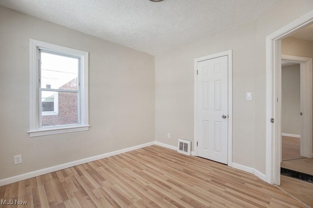
<instances>
[{"instance_id":1,"label":"white trim and frame around the window, without the glass","mask_svg":"<svg viewBox=\"0 0 313 208\"><path fill-rule=\"evenodd\" d=\"M30 83L30 102L29 102L29 136L43 136L57 133L66 132L79 132L89 130L89 95L88 95L88 60L89 53L85 51L80 51L72 48L67 48L64 46L59 46L51 43L46 43L43 41L29 39L29 83ZM74 125L62 125L53 127L39 127L39 61L38 61L38 49L45 48L49 51L54 51L58 53L66 53L72 56L80 57L80 124Z\"/></svg>"}]
</instances>

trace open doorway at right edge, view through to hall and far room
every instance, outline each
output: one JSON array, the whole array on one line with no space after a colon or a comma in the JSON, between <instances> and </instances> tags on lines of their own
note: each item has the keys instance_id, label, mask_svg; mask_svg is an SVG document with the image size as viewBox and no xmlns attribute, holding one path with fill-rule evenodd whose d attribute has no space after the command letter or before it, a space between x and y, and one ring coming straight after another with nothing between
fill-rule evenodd
<instances>
[{"instance_id":1,"label":"open doorway at right edge, view through to hall and far room","mask_svg":"<svg viewBox=\"0 0 313 208\"><path fill-rule=\"evenodd\" d=\"M309 25L281 40L280 72L280 188L310 207L313 207L313 158L308 147L312 148L313 53L308 50L313 50L312 34L313 25Z\"/></svg>"}]
</instances>

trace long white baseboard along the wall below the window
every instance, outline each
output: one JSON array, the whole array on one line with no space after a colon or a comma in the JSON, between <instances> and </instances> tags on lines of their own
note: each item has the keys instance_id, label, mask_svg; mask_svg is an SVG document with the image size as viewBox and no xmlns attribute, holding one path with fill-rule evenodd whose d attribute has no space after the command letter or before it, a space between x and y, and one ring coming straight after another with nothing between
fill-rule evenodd
<instances>
[{"instance_id":1,"label":"long white baseboard along the wall below the window","mask_svg":"<svg viewBox=\"0 0 313 208\"><path fill-rule=\"evenodd\" d=\"M25 179L28 179L28 178L32 178L32 177L36 177L36 176L39 176L39 175L43 175L43 174L46 174L46 173L50 173L50 172L54 172L54 171L58 171L58 170L63 170L63 169L70 168L70 167L73 167L73 166L77 166L77 165L81 165L81 164L84 164L84 163L88 163L88 162L91 162L91 161L94 161L94 160L99 160L99 159L110 157L110 156L113 156L113 155L116 155L116 154L121 154L121 153L124 153L124 152L127 152L127 151L137 150L137 149L148 147L148 146L151 146L151 145L154 145L154 144L156 144L156 142L149 142L149 143L146 143L146 144L137 145L137 146L134 146L134 147L123 149L123 150L112 151L112 152L108 152L108 153L104 153L104 154L100 154L100 155L84 158L84 159L81 159L81 160L76 160L76 161L73 161L73 162L64 163L64 164L61 164L61 165L52 166L52 167L41 169L41 170L35 170L35 171L32 171L32 172L27 172L27 173L24 173L24 174L21 174L21 175L16 175L16 176L9 177L9 178L4 178L4 179L0 180L0 186L4 186L4 185L7 185L7 184L15 183L15 182L22 181L22 180L25 180Z\"/></svg>"}]
</instances>

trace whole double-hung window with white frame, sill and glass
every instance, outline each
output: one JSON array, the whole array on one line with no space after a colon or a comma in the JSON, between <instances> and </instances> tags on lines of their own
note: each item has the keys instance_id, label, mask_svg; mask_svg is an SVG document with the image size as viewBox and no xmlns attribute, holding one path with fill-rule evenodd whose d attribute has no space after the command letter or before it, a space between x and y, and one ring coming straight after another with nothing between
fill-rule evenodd
<instances>
[{"instance_id":1,"label":"whole double-hung window with white frame, sill and glass","mask_svg":"<svg viewBox=\"0 0 313 208\"><path fill-rule=\"evenodd\" d=\"M89 130L88 52L30 39L30 130Z\"/></svg>"}]
</instances>

